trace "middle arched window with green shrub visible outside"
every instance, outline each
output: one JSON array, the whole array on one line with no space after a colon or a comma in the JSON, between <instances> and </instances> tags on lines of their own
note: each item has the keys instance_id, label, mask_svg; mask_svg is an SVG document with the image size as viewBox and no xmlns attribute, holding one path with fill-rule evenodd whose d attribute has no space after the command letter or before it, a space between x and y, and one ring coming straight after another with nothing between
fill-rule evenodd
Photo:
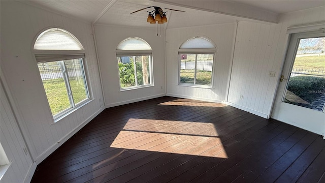
<instances>
[{"instance_id":1,"label":"middle arched window with green shrub visible outside","mask_svg":"<svg viewBox=\"0 0 325 183\"><path fill-rule=\"evenodd\" d=\"M120 89L152 86L152 50L141 38L127 38L116 48Z\"/></svg>"}]
</instances>

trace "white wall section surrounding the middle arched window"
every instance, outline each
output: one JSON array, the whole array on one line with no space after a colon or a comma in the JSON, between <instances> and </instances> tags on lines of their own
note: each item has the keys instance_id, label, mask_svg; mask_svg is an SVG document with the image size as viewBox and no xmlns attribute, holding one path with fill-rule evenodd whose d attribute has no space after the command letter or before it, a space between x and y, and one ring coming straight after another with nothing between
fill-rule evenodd
<instances>
[{"instance_id":1,"label":"white wall section surrounding the middle arched window","mask_svg":"<svg viewBox=\"0 0 325 183\"><path fill-rule=\"evenodd\" d=\"M155 25L153 25L155 27ZM156 35L156 29L129 28L108 25L95 26L96 42L100 58L106 107L165 96L165 48L164 34ZM120 91L117 45L128 37L139 37L152 48L154 86Z\"/></svg>"}]
</instances>

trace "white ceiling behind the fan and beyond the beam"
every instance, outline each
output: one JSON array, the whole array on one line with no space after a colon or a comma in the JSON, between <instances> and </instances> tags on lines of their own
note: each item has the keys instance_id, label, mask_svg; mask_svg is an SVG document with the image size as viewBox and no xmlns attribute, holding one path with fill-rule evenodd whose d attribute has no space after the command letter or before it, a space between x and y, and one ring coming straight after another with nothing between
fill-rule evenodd
<instances>
[{"instance_id":1,"label":"white ceiling behind the fan and beyond the beam","mask_svg":"<svg viewBox=\"0 0 325 183\"><path fill-rule=\"evenodd\" d=\"M197 0L204 2L205 0ZM66 16L75 17L77 19L96 24L109 24L120 26L135 26L135 27L152 27L157 25L146 22L148 11L153 8L139 11L130 14L136 10L149 7L158 6L161 8L171 8L183 10L185 12L168 11L168 23L161 26L165 28L189 27L198 25L210 25L219 23L235 22L236 20L244 20L244 18L218 14L214 12L184 8L171 4L164 4L155 2L154 0L48 0L48 1L21 1L32 6L37 6L52 12L57 12ZM160 1L163 2L163 1ZM175 1L176 2L176 1ZM325 6L325 1L228 1L239 7L243 4L246 7L263 9L276 14L298 11L308 8ZM158 25L160 26L160 25Z\"/></svg>"}]
</instances>

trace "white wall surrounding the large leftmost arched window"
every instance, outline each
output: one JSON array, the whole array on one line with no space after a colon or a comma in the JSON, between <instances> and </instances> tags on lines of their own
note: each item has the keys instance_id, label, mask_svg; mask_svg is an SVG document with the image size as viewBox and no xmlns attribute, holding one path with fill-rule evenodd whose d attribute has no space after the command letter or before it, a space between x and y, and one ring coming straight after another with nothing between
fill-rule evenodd
<instances>
[{"instance_id":1,"label":"white wall surrounding the large leftmost arched window","mask_svg":"<svg viewBox=\"0 0 325 183\"><path fill-rule=\"evenodd\" d=\"M33 40L48 27L66 29L86 51L86 70L93 99L72 114L53 123L35 57ZM1 69L8 93L21 120L23 136L37 163L50 155L102 109L103 99L91 25L16 1L1 1ZM58 143L60 142L60 143ZM21 150L21 149L19 149ZM30 163L30 162L28 162ZM24 172L15 172L15 174Z\"/></svg>"}]
</instances>

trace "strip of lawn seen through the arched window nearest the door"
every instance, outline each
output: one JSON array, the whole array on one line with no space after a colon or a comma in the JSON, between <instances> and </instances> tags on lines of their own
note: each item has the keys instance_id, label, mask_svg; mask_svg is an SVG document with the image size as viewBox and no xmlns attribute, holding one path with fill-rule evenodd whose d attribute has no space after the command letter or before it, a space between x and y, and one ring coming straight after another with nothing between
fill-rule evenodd
<instances>
[{"instance_id":1,"label":"strip of lawn seen through the arched window nearest the door","mask_svg":"<svg viewBox=\"0 0 325 183\"><path fill-rule=\"evenodd\" d=\"M210 85L211 84L211 71L197 71L196 84ZM181 83L194 83L194 70L181 70Z\"/></svg>"}]
</instances>

